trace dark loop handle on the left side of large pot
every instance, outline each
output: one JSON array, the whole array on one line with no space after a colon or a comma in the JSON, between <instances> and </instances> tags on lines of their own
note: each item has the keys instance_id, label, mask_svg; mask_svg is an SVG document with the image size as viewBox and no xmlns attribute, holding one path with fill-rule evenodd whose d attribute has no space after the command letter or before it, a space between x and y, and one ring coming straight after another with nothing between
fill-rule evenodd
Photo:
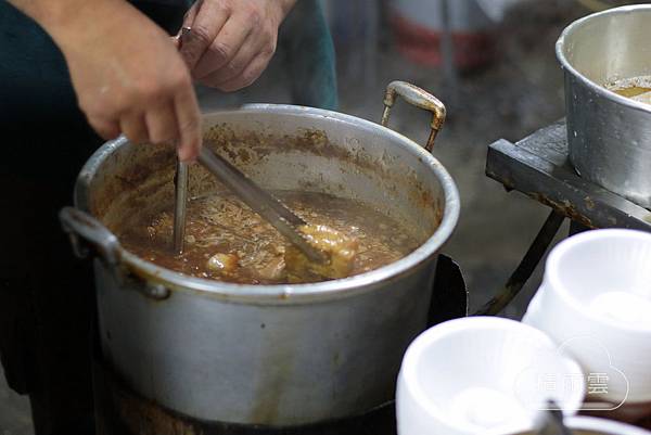
<instances>
[{"instance_id":1,"label":"dark loop handle on the left side of large pot","mask_svg":"<svg viewBox=\"0 0 651 435\"><path fill-rule=\"evenodd\" d=\"M117 266L119 242L102 222L75 207L64 207L59 213L59 219L63 231L71 238L77 257L87 258L90 245L108 266Z\"/></svg>"}]
</instances>

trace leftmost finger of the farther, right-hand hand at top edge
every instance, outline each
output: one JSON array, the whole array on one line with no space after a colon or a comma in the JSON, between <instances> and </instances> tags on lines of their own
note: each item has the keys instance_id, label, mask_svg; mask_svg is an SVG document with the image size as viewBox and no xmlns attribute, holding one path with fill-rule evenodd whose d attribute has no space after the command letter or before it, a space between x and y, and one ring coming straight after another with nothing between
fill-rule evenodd
<instances>
[{"instance_id":1,"label":"leftmost finger of the farther, right-hand hand at top edge","mask_svg":"<svg viewBox=\"0 0 651 435\"><path fill-rule=\"evenodd\" d=\"M188 12L183 27L191 27L183 38L181 55L192 71L212 46L231 15L227 2L197 1Z\"/></svg>"}]
</instances>

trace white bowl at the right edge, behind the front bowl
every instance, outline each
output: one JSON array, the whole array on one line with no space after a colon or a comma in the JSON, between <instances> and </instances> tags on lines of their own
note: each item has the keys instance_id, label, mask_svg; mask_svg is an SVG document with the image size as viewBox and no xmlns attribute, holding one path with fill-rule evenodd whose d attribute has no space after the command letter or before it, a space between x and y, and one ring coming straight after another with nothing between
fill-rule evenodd
<instances>
[{"instance_id":1,"label":"white bowl at the right edge, behind the front bowl","mask_svg":"<svg viewBox=\"0 0 651 435\"><path fill-rule=\"evenodd\" d=\"M651 234L597 230L563 241L523 322L582 364L587 401L651 401Z\"/></svg>"}]
</instances>

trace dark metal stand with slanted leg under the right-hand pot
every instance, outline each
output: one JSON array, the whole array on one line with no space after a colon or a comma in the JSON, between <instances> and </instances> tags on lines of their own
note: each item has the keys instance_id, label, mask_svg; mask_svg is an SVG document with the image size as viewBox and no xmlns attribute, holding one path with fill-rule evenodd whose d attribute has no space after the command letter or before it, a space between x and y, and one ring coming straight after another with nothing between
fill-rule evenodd
<instances>
[{"instance_id":1,"label":"dark metal stand with slanted leg under the right-hand pot","mask_svg":"<svg viewBox=\"0 0 651 435\"><path fill-rule=\"evenodd\" d=\"M488 146L486 175L552 212L505 290L475 315L496 315L518 295L565 218L571 219L570 235L598 228L651 232L651 210L582 179L567 155L564 120L516 143L502 139Z\"/></svg>"}]
</instances>

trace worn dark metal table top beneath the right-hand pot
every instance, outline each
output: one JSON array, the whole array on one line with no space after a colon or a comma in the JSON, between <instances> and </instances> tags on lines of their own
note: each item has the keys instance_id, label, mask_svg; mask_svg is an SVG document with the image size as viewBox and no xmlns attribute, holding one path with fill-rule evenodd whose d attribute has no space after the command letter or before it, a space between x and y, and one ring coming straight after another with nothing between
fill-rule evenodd
<instances>
[{"instance_id":1,"label":"worn dark metal table top beneath the right-hand pot","mask_svg":"<svg viewBox=\"0 0 651 435\"><path fill-rule=\"evenodd\" d=\"M490 144L486 175L585 227L651 231L651 210L582 179L567 154L561 120L516 143Z\"/></svg>"}]
</instances>

